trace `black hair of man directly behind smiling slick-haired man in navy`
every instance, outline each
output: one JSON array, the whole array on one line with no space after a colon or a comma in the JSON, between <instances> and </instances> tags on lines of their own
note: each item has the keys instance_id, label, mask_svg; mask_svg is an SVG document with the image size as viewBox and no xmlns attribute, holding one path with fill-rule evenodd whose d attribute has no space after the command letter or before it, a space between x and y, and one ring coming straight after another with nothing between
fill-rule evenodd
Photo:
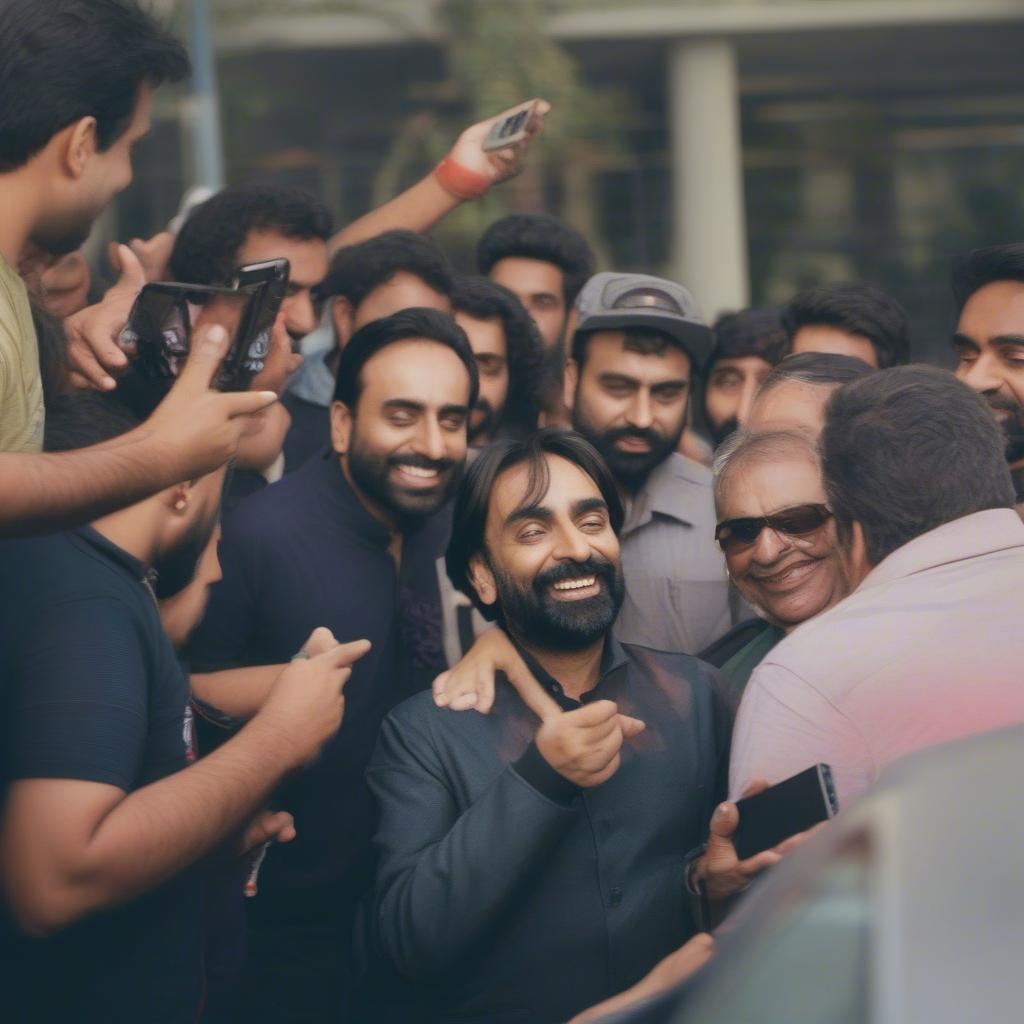
<instances>
[{"instance_id":1,"label":"black hair of man directly behind smiling slick-haired man in navy","mask_svg":"<svg viewBox=\"0 0 1024 1024\"><path fill-rule=\"evenodd\" d=\"M317 291L324 298L340 295L355 308L396 273L411 273L440 295L451 296L455 275L433 239L416 231L384 231L334 254Z\"/></svg>"}]
</instances>

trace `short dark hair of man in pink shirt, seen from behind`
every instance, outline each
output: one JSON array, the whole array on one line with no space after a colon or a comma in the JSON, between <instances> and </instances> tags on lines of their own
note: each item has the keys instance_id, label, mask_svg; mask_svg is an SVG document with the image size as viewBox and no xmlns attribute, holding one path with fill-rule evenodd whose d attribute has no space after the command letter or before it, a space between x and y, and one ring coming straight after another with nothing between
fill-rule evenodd
<instances>
[{"instance_id":1,"label":"short dark hair of man in pink shirt, seen from behind","mask_svg":"<svg viewBox=\"0 0 1024 1024\"><path fill-rule=\"evenodd\" d=\"M848 545L859 522L872 565L944 523L1014 507L991 411L933 367L897 367L839 388L820 450L839 539Z\"/></svg>"}]
</instances>

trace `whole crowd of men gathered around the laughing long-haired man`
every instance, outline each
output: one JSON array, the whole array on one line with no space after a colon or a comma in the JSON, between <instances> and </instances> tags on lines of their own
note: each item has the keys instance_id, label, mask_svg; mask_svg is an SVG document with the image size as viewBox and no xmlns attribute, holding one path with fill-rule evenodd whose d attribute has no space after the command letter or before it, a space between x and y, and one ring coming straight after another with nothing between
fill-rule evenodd
<instances>
[{"instance_id":1,"label":"whole crowd of men gathered around the laughing long-haired man","mask_svg":"<svg viewBox=\"0 0 1024 1024\"><path fill-rule=\"evenodd\" d=\"M951 267L954 374L872 284L708 325L542 213L459 273L424 232L538 101L341 230L226 187L104 293L187 73L135 0L0 7L5 1020L652 1020L804 839L740 860L738 798L1024 722L1024 243ZM140 404L142 285L279 258L252 387L201 328Z\"/></svg>"}]
</instances>

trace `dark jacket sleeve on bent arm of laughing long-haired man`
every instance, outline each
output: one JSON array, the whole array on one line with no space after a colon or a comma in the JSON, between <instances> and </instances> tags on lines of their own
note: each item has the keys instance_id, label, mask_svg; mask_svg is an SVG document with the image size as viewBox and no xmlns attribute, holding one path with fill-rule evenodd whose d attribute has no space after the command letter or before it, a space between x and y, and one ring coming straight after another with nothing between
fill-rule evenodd
<instances>
[{"instance_id":1,"label":"dark jacket sleeve on bent arm of laughing long-haired man","mask_svg":"<svg viewBox=\"0 0 1024 1024\"><path fill-rule=\"evenodd\" d=\"M367 777L379 811L375 944L414 980L436 978L487 935L577 813L513 766L460 813L430 737L393 715Z\"/></svg>"}]
</instances>

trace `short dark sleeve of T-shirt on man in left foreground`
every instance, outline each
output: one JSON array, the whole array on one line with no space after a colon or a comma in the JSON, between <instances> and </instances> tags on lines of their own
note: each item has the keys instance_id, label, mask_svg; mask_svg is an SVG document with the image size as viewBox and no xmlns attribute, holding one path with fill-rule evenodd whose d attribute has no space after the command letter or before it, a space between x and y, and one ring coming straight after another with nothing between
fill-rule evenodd
<instances>
[{"instance_id":1,"label":"short dark sleeve of T-shirt on man in left foreground","mask_svg":"<svg viewBox=\"0 0 1024 1024\"><path fill-rule=\"evenodd\" d=\"M148 721L141 618L116 598L91 597L27 621L8 691L10 777L135 788Z\"/></svg>"}]
</instances>

